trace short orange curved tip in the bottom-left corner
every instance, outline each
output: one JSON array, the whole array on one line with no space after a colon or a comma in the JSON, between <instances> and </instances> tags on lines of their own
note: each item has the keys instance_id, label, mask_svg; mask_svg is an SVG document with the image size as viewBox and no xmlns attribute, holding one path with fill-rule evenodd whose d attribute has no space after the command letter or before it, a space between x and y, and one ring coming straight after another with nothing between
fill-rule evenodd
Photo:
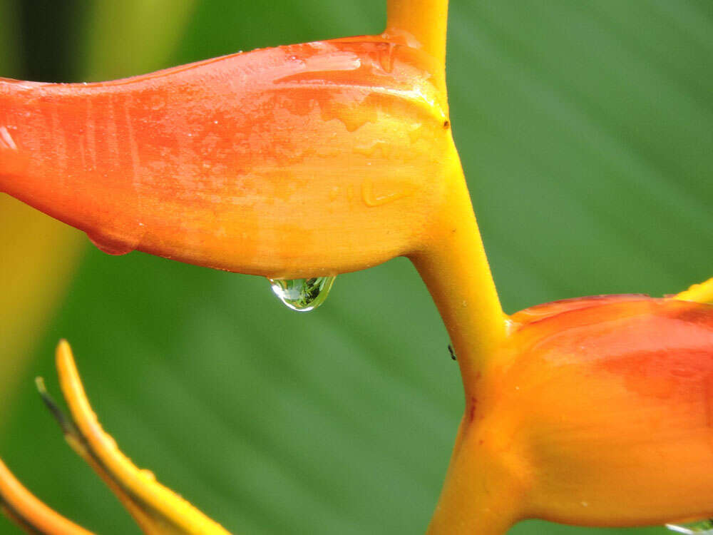
<instances>
[{"instance_id":1,"label":"short orange curved tip in the bottom-left corner","mask_svg":"<svg viewBox=\"0 0 713 535\"><path fill-rule=\"evenodd\" d=\"M0 506L30 534L93 535L37 499L0 460Z\"/></svg>"}]
</instances>

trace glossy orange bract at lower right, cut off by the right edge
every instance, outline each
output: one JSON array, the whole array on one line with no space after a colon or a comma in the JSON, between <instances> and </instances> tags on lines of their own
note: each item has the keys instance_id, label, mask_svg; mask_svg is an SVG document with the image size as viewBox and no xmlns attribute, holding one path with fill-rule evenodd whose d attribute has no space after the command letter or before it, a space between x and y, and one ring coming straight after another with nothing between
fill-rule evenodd
<instances>
[{"instance_id":1,"label":"glossy orange bract at lower right, cut off by the right edge","mask_svg":"<svg viewBox=\"0 0 713 535\"><path fill-rule=\"evenodd\" d=\"M469 447L520 459L522 514L621 526L713 512L713 306L602 296L513 320L471 400Z\"/></svg>"}]
</instances>

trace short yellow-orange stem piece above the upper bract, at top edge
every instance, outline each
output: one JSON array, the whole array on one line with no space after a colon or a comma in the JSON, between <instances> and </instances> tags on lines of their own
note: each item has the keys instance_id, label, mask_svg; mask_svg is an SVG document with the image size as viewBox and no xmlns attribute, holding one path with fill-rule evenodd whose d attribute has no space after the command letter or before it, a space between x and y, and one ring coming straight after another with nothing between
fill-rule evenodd
<instances>
[{"instance_id":1,"label":"short yellow-orange stem piece above the upper bract, at top edge","mask_svg":"<svg viewBox=\"0 0 713 535\"><path fill-rule=\"evenodd\" d=\"M448 0L389 0L386 19L387 32L409 32L445 73Z\"/></svg>"}]
</instances>

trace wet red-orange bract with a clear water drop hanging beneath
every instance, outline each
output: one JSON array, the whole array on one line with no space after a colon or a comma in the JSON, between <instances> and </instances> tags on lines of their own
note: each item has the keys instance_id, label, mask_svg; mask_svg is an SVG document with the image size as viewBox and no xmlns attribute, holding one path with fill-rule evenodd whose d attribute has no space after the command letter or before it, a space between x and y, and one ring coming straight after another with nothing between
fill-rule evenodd
<instances>
[{"instance_id":1,"label":"wet red-orange bract with a clear water drop hanging beneath","mask_svg":"<svg viewBox=\"0 0 713 535\"><path fill-rule=\"evenodd\" d=\"M434 70L367 36L107 83L2 80L0 190L109 253L270 277L369 267L419 249L443 198Z\"/></svg>"}]
</instances>

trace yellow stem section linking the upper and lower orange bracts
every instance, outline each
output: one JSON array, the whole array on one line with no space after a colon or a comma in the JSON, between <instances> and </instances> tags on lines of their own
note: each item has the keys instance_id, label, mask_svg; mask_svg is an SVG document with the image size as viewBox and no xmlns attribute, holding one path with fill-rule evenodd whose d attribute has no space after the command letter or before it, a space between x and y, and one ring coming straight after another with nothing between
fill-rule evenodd
<instances>
[{"instance_id":1,"label":"yellow stem section linking the upper and lower orange bracts","mask_svg":"<svg viewBox=\"0 0 713 535\"><path fill-rule=\"evenodd\" d=\"M507 316L498 299L466 180L453 146L443 157L446 200L426 250L411 255L443 317L461 367L466 396L483 364L506 337Z\"/></svg>"}]
</instances>

